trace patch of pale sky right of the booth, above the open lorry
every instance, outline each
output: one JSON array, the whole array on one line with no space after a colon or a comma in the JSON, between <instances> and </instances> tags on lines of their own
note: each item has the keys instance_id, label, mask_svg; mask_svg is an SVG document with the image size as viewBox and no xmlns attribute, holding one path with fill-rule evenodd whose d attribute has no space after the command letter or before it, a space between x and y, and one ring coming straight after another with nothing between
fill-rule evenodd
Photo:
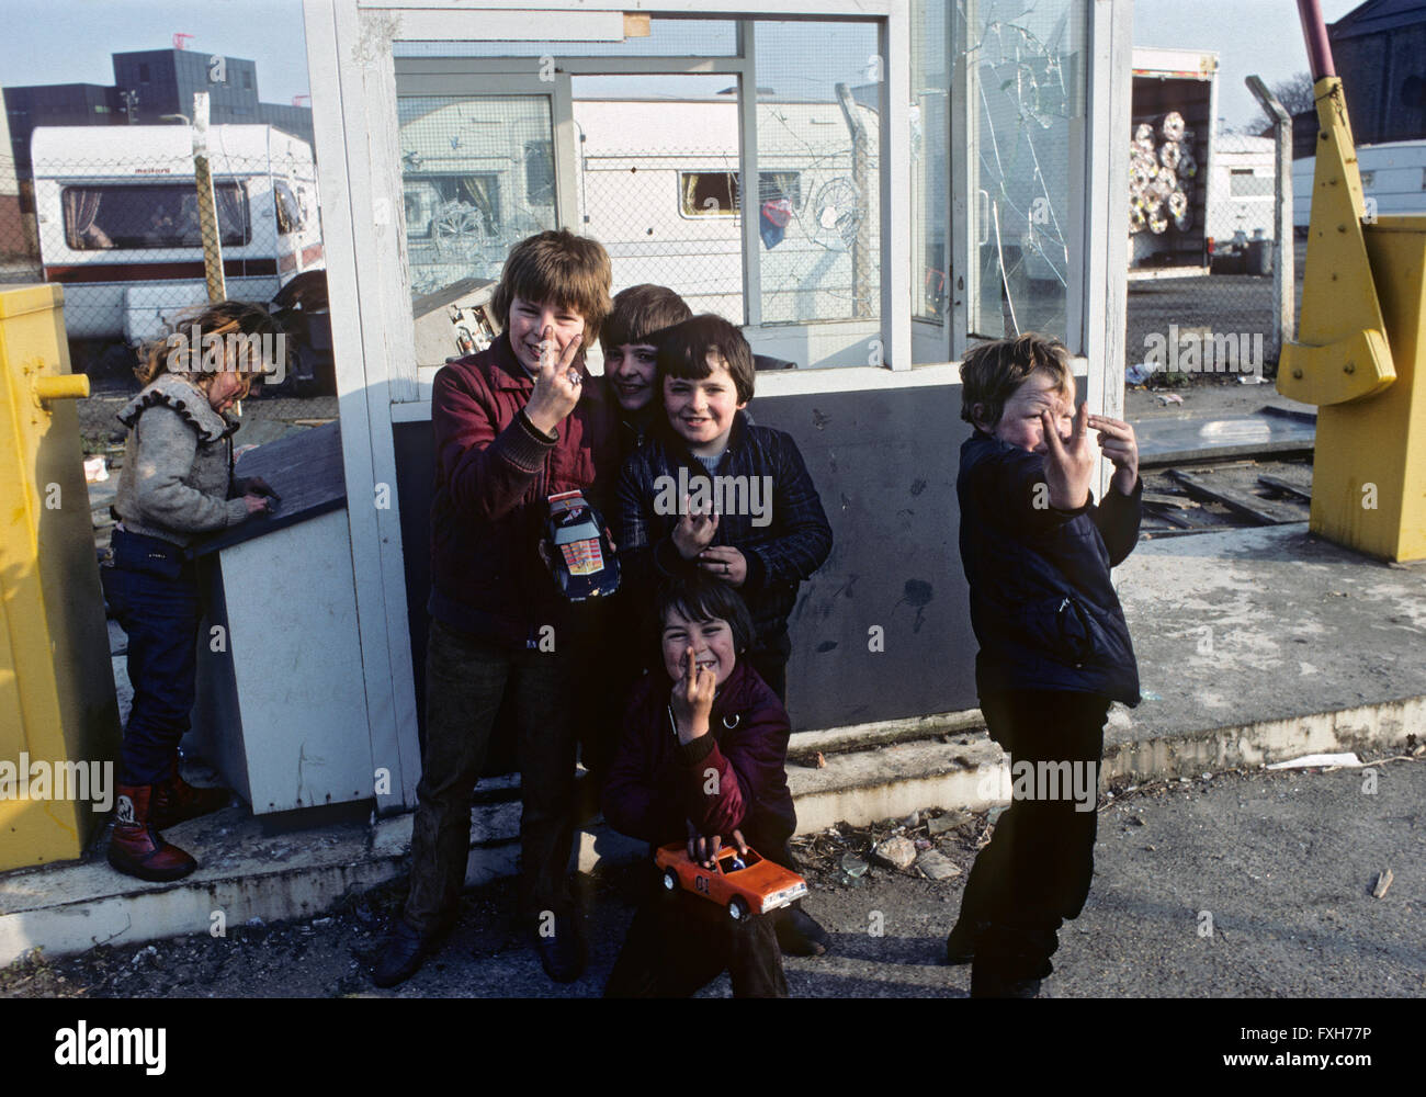
<instances>
[{"instance_id":1,"label":"patch of pale sky right of the booth, above the open lorry","mask_svg":"<svg viewBox=\"0 0 1426 1097\"><path fill-rule=\"evenodd\" d=\"M1320 0L1333 23L1360 0ZM1231 127L1266 121L1243 83L1268 87L1308 71L1308 47L1295 0L1137 0L1134 44L1218 53L1218 116Z\"/></svg>"}]
</instances>

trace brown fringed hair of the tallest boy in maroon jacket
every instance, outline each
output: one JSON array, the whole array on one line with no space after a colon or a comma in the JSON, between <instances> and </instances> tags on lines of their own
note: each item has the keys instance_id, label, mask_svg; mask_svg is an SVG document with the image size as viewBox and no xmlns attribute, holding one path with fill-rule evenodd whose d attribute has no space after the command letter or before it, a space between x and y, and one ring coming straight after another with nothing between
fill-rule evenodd
<instances>
[{"instance_id":1,"label":"brown fringed hair of the tallest boy in maroon jacket","mask_svg":"<svg viewBox=\"0 0 1426 1097\"><path fill-rule=\"evenodd\" d=\"M603 244L576 237L568 228L552 228L511 248L501 284L491 297L491 308L501 328L509 327L511 302L516 297L570 308L585 318L580 345L588 349L599 338L599 328L609 315L612 278Z\"/></svg>"}]
</instances>

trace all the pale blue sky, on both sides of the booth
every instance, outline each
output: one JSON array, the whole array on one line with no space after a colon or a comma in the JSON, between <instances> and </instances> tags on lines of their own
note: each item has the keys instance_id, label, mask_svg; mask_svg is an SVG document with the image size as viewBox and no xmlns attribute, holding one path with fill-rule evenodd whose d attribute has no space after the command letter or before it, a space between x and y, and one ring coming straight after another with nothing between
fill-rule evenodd
<instances>
[{"instance_id":1,"label":"all the pale blue sky, on both sides of the booth","mask_svg":"<svg viewBox=\"0 0 1426 1097\"><path fill-rule=\"evenodd\" d=\"M1320 3L1330 23L1359 0ZM1306 71L1296 7L1295 0L1137 0L1134 43L1215 50L1219 116L1236 127L1261 117L1245 77L1256 73L1271 86ZM111 84L111 53L165 49L184 31L195 36L188 49L257 61L265 103L308 91L299 0L0 0L0 84Z\"/></svg>"}]
</instances>

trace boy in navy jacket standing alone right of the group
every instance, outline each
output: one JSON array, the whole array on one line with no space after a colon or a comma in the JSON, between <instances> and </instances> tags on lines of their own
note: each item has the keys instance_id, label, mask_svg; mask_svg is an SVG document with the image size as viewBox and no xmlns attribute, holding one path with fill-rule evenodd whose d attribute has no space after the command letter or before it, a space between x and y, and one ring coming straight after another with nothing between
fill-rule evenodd
<instances>
[{"instance_id":1,"label":"boy in navy jacket standing alone right of the group","mask_svg":"<svg viewBox=\"0 0 1426 1097\"><path fill-rule=\"evenodd\" d=\"M961 418L975 428L955 481L975 683L1015 783L967 880L947 961L974 959L973 996L1034 997L1061 919L1089 893L1109 702L1139 702L1109 569L1138 538L1144 485L1134 428L1075 411L1060 342L1025 334L977 347L961 382ZM1088 428L1115 466L1098 506Z\"/></svg>"}]
</instances>

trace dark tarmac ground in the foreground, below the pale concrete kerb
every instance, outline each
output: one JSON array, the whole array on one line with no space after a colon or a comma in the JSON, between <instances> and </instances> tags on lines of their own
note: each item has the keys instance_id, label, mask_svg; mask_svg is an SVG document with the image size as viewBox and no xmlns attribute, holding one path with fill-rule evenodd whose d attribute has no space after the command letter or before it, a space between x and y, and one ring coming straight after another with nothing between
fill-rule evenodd
<instances>
[{"instance_id":1,"label":"dark tarmac ground in the foreground, below the pale concrete kerb","mask_svg":"<svg viewBox=\"0 0 1426 1097\"><path fill-rule=\"evenodd\" d=\"M1121 786L1101 799L1094 887L1061 930L1044 997L1426 997L1423 803L1419 760ZM806 906L833 951L784 961L794 997L967 996L970 967L945 967L941 956L987 816L935 839L961 869L944 882L877 864L848 880L824 853L844 846L866 857L896 822L804 843ZM927 833L927 822L910 833ZM1386 869L1392 882L1375 897ZM540 971L515 923L513 883L502 879L469 892L442 951L388 991L366 971L399 882L315 919L11 966L0 971L0 997L590 997L642 880L635 864L579 877L590 963L566 987ZM702 996L729 993L724 976Z\"/></svg>"}]
</instances>

